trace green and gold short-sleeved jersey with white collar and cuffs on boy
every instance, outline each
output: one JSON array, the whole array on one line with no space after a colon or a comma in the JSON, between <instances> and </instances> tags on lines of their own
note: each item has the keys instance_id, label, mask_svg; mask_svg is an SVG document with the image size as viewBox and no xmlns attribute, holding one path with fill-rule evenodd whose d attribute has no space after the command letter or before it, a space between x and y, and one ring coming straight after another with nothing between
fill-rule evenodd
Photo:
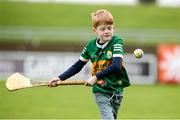
<instances>
[{"instance_id":1,"label":"green and gold short-sleeved jersey with white collar and cuffs on boy","mask_svg":"<svg viewBox=\"0 0 180 120\"><path fill-rule=\"evenodd\" d=\"M91 74L96 75L112 64L113 57L123 58L123 54L123 41L119 36L114 35L110 41L103 45L97 43L97 38L90 40L81 52L80 60L90 60L92 63ZM127 72L122 65L119 72L98 79L92 87L93 93L113 94L122 92L123 88L129 85Z\"/></svg>"}]
</instances>

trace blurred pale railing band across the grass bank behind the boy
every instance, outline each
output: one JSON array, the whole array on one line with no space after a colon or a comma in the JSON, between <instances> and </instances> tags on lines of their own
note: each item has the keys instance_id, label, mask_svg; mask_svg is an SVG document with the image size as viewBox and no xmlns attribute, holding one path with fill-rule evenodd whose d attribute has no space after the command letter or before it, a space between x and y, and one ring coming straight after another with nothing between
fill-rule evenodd
<instances>
[{"instance_id":1,"label":"blurred pale railing band across the grass bank behind the boy","mask_svg":"<svg viewBox=\"0 0 180 120\"><path fill-rule=\"evenodd\" d=\"M171 29L116 29L125 40L146 43L178 42L179 30ZM56 28L56 27L12 27L0 26L2 40L89 40L94 36L91 28ZM53 42L53 41L52 41Z\"/></svg>"}]
</instances>

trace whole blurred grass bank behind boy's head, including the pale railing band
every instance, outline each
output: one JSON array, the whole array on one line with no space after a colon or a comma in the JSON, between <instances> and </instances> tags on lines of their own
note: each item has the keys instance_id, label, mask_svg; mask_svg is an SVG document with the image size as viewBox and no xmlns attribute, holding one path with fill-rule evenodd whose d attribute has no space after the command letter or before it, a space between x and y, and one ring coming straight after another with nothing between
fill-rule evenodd
<instances>
[{"instance_id":1,"label":"whole blurred grass bank behind boy's head, including the pale railing band","mask_svg":"<svg viewBox=\"0 0 180 120\"><path fill-rule=\"evenodd\" d=\"M108 9L112 12L118 33L133 30L132 33L123 34L123 37L128 36L125 37L127 44L155 46L159 43L180 43L180 8L8 1L0 2L0 43L86 43L94 36L90 13L97 9ZM22 29L20 33L17 32L18 27ZM149 32L143 34L145 30ZM4 31L11 31L11 34ZM139 36L132 36L134 34ZM162 38L162 35L167 36Z\"/></svg>"}]
</instances>

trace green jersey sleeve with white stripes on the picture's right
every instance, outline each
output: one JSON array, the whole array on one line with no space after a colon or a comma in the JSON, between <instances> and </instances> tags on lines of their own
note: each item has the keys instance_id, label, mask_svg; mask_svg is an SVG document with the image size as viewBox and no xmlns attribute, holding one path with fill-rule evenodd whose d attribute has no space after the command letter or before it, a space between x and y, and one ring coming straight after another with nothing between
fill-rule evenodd
<instances>
[{"instance_id":1,"label":"green jersey sleeve with white stripes on the picture's right","mask_svg":"<svg viewBox=\"0 0 180 120\"><path fill-rule=\"evenodd\" d=\"M123 58L124 49L121 40L116 41L113 45L113 57L121 57Z\"/></svg>"}]
</instances>

